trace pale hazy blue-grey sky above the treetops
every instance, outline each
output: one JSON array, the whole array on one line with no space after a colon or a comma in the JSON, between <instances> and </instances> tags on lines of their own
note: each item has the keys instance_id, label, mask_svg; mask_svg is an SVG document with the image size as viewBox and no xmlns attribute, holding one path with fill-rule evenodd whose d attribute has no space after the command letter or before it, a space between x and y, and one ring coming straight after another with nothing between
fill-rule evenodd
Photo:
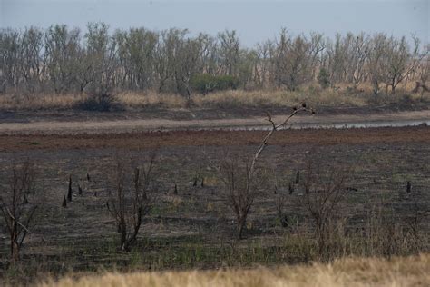
<instances>
[{"instance_id":1,"label":"pale hazy blue-grey sky above the treetops","mask_svg":"<svg viewBox=\"0 0 430 287\"><path fill-rule=\"evenodd\" d=\"M216 35L235 29L243 45L272 38L286 27L292 34L316 31L415 33L429 43L430 0L0 0L0 26L66 24L84 28L102 21L115 28L188 28Z\"/></svg>"}]
</instances>

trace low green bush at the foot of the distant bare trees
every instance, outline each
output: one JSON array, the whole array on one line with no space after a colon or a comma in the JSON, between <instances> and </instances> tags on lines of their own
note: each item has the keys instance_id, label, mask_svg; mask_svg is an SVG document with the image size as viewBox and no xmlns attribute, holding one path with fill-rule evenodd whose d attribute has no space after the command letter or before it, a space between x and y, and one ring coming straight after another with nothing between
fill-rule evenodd
<instances>
[{"instance_id":1,"label":"low green bush at the foot of the distant bare trees","mask_svg":"<svg viewBox=\"0 0 430 287\"><path fill-rule=\"evenodd\" d=\"M200 94L235 90L238 87L238 79L232 75L196 74L191 79L191 87Z\"/></svg>"}]
</instances>

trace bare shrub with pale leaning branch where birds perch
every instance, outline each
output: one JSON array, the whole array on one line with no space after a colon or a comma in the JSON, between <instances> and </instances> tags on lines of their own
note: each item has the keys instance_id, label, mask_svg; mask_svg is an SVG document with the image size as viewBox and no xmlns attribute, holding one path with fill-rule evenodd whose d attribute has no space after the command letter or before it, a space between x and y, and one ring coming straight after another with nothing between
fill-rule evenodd
<instances>
[{"instance_id":1,"label":"bare shrub with pale leaning branch where birds perch","mask_svg":"<svg viewBox=\"0 0 430 287\"><path fill-rule=\"evenodd\" d=\"M272 125L272 128L259 144L259 148L256 153L253 154L250 163L239 164L238 160L233 159L222 163L220 166L221 179L225 185L226 203L236 216L238 239L242 238L249 211L259 194L257 188L259 186L259 181L258 176L256 176L256 163L259 160L259 156L268 145L269 138L272 134L284 127L289 119L300 112L315 113L313 109L308 108L307 105L303 103L301 107L293 108L293 112L279 124L275 124L271 115L268 113L267 120Z\"/></svg>"}]
</instances>

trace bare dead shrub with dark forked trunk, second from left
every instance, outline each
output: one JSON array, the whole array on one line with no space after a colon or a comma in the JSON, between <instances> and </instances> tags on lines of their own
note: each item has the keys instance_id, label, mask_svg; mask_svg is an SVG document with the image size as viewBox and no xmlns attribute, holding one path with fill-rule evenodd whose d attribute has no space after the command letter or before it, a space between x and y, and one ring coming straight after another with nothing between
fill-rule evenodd
<instances>
[{"instance_id":1,"label":"bare dead shrub with dark forked trunk, second from left","mask_svg":"<svg viewBox=\"0 0 430 287\"><path fill-rule=\"evenodd\" d=\"M121 250L129 252L137 240L143 217L149 212L153 202L152 194L156 190L153 166L155 153L149 163L142 168L136 167L132 178L128 168L117 161L114 176L115 193L106 203L109 213L115 219L121 234Z\"/></svg>"}]
</instances>

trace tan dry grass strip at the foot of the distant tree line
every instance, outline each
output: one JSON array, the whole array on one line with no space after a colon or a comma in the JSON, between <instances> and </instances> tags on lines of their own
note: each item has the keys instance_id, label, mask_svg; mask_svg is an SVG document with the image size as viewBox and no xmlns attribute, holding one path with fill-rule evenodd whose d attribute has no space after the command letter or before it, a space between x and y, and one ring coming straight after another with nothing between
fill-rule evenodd
<instances>
[{"instance_id":1,"label":"tan dry grass strip at the foot of the distant tree line","mask_svg":"<svg viewBox=\"0 0 430 287\"><path fill-rule=\"evenodd\" d=\"M71 109L87 96L84 94L34 94L0 95L0 107L5 110L44 110ZM300 91L223 91L208 95L193 94L192 105L197 108L261 108L292 106L307 102L312 106L366 106L369 104L430 102L430 93L410 94L401 91L396 94L381 93L375 97L371 87L363 85L357 92L339 85L337 90L321 90L309 85ZM126 109L145 107L187 108L185 97L177 94L157 94L155 92L122 92L116 95L116 101Z\"/></svg>"}]
</instances>

